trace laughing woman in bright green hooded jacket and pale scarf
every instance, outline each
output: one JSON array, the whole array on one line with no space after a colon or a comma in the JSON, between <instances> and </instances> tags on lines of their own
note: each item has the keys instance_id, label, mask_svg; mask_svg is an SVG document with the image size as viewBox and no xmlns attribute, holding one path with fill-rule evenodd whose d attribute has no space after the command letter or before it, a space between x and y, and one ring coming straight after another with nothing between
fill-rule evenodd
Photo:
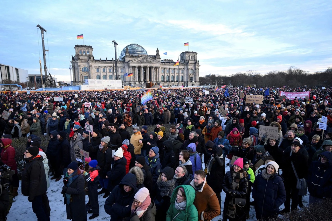
<instances>
[{"instance_id":1,"label":"laughing woman in bright green hooded jacket and pale scarf","mask_svg":"<svg viewBox=\"0 0 332 221\"><path fill-rule=\"evenodd\" d=\"M195 189L191 185L180 185L173 191L166 221L197 221L198 212L194 206Z\"/></svg>"}]
</instances>

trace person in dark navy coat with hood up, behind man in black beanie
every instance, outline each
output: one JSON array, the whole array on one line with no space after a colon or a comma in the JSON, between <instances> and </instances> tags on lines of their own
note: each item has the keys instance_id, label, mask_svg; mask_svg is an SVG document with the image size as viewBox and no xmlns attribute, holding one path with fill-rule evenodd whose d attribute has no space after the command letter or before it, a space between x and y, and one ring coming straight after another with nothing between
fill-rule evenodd
<instances>
[{"instance_id":1,"label":"person in dark navy coat with hood up, behind man in black beanie","mask_svg":"<svg viewBox=\"0 0 332 221\"><path fill-rule=\"evenodd\" d=\"M58 131L53 130L49 132L50 140L48 141L47 149L46 149L46 155L47 159L49 160L49 164L51 165L51 169L53 170L53 177L51 180L54 180L56 178L61 179L61 171L60 171L60 164L59 164L59 155L58 155L58 149L57 146L59 144L59 140L57 138Z\"/></svg>"}]
</instances>

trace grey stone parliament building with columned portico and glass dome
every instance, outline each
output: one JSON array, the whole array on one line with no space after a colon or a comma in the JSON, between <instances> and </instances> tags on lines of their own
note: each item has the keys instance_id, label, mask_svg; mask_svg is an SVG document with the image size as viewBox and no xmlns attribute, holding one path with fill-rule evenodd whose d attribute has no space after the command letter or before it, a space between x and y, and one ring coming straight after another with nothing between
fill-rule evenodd
<instances>
[{"instance_id":1,"label":"grey stone parliament building with columned portico and glass dome","mask_svg":"<svg viewBox=\"0 0 332 221\"><path fill-rule=\"evenodd\" d=\"M71 60L74 85L82 84L85 79L121 79L124 85L135 86L199 86L200 65L195 51L182 52L179 65L174 66L174 60L161 60L158 48L156 55L148 55L142 46L129 44L117 60L116 76L115 60L95 59L90 45L75 45L74 48L75 56ZM127 77L126 73L133 75Z\"/></svg>"}]
</instances>

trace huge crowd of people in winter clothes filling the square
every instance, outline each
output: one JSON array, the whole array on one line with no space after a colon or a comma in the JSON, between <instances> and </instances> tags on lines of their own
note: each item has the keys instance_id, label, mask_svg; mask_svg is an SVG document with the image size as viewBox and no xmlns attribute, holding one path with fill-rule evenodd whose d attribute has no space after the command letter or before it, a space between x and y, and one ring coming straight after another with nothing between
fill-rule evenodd
<instances>
[{"instance_id":1,"label":"huge crowd of people in winter clothes filling the square","mask_svg":"<svg viewBox=\"0 0 332 221\"><path fill-rule=\"evenodd\" d=\"M0 220L18 195L12 141L20 137L27 137L22 194L40 221L50 220L56 203L46 194L49 180L63 182L59 194L74 221L98 217L101 194L111 221L246 220L250 205L267 220L303 207L307 191L309 204L332 198L332 89L304 89L307 99L279 99L281 90L303 91L284 87L261 104L246 103L246 95L264 95L258 87L228 88L227 96L158 89L144 104L136 90L3 93L0 113L9 116L0 117L0 164L15 174L9 184L1 179ZM260 137L261 125L277 127L278 137ZM41 136L49 136L47 146ZM89 153L84 163L75 148Z\"/></svg>"}]
</instances>

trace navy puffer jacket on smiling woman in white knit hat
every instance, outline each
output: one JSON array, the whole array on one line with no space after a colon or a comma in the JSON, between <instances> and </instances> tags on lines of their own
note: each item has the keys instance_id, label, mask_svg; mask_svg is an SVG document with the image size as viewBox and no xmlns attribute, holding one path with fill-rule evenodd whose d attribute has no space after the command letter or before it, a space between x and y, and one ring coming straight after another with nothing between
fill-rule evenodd
<instances>
[{"instance_id":1,"label":"navy puffer jacket on smiling woman in white knit hat","mask_svg":"<svg viewBox=\"0 0 332 221\"><path fill-rule=\"evenodd\" d=\"M257 175L252 186L252 198L255 199L257 219L279 214L279 206L286 200L283 181L284 179L277 173L268 180L263 178L262 173Z\"/></svg>"}]
</instances>

